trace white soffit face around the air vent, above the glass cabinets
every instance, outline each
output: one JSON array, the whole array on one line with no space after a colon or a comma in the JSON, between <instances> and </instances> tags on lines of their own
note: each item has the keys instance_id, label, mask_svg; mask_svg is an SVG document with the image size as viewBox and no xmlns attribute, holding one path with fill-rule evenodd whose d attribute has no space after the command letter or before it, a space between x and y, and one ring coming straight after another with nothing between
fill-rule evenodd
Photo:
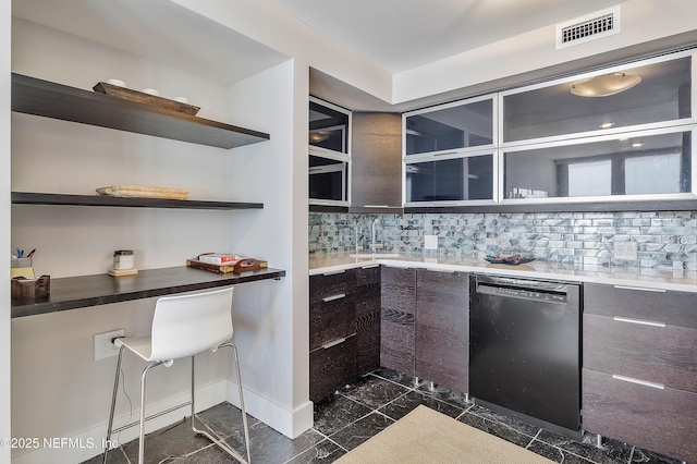
<instances>
[{"instance_id":1,"label":"white soffit face around the air vent, above the glass cabinets","mask_svg":"<svg viewBox=\"0 0 697 464\"><path fill-rule=\"evenodd\" d=\"M555 50L555 27L550 25L398 73L393 78L392 102L416 100L518 74L539 72L560 63L573 63L607 52L615 52L616 56L616 50L695 30L697 2L625 1L621 4L621 20L620 34L561 50Z\"/></svg>"}]
</instances>

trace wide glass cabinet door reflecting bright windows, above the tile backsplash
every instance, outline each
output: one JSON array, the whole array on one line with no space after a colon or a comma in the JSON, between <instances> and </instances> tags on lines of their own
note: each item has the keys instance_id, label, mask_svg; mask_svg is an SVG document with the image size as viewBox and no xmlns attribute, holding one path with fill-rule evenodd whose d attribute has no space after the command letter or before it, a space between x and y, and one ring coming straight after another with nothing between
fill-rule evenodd
<instances>
[{"instance_id":1,"label":"wide glass cabinet door reflecting bright windows, above the tile backsplash","mask_svg":"<svg viewBox=\"0 0 697 464\"><path fill-rule=\"evenodd\" d=\"M505 199L690 197L695 125L503 151Z\"/></svg>"}]
</instances>

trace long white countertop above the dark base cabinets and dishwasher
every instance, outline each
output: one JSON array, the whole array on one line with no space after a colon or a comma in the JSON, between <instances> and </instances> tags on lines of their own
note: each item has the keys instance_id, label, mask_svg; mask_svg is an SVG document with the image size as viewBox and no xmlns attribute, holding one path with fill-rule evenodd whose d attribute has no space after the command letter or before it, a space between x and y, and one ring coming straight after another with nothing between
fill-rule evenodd
<instances>
[{"instance_id":1,"label":"long white countertop above the dark base cabinets and dishwasher","mask_svg":"<svg viewBox=\"0 0 697 464\"><path fill-rule=\"evenodd\" d=\"M529 277L538 279L592 282L613 285L639 286L656 290L675 290L697 293L697 272L684 270L656 270L608 267L594 269L560 262L535 260L525 265L492 265L484 258L470 256L438 255L428 253L399 253L399 257L377 254L375 258L352 258L350 253L309 255L309 274L322 274L371 265L401 268L426 268L456 272L482 272L499 276Z\"/></svg>"}]
</instances>

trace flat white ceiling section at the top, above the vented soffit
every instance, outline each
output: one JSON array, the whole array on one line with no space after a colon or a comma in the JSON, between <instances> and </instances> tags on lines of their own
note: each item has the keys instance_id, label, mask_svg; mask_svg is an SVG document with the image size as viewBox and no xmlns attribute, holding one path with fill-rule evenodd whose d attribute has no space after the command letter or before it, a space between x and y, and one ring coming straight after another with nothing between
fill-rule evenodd
<instances>
[{"instance_id":1,"label":"flat white ceiling section at the top, above the vented soffit","mask_svg":"<svg viewBox=\"0 0 697 464\"><path fill-rule=\"evenodd\" d=\"M625 0L269 0L391 73Z\"/></svg>"}]
</instances>

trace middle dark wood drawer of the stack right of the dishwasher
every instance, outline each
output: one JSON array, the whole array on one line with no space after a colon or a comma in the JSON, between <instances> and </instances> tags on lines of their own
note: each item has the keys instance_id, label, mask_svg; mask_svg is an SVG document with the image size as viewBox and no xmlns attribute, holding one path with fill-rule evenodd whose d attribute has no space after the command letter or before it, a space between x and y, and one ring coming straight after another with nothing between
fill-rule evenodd
<instances>
[{"instance_id":1,"label":"middle dark wood drawer of the stack right of the dishwasher","mask_svg":"<svg viewBox=\"0 0 697 464\"><path fill-rule=\"evenodd\" d=\"M584 315L584 367L697 393L697 329Z\"/></svg>"}]
</instances>

